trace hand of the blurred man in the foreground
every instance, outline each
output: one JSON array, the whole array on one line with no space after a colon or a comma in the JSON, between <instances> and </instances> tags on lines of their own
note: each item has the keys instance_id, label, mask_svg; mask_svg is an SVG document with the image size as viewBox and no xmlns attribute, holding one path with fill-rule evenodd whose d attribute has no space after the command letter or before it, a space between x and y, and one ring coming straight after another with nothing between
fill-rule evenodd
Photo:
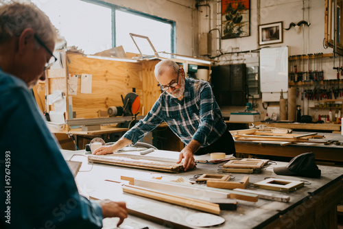
<instances>
[{"instance_id":1,"label":"hand of the blurred man in the foreground","mask_svg":"<svg viewBox=\"0 0 343 229\"><path fill-rule=\"evenodd\" d=\"M128 217L128 209L126 208L125 202L102 200L99 204L102 206L102 215L104 218L119 217L117 227L123 224L124 219Z\"/></svg>"}]
</instances>

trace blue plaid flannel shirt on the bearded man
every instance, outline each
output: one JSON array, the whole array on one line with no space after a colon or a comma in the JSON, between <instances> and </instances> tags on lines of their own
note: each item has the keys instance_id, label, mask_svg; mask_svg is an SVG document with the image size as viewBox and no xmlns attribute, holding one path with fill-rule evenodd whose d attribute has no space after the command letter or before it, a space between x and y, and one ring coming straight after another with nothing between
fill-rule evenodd
<instances>
[{"instance_id":1,"label":"blue plaid flannel shirt on the bearded man","mask_svg":"<svg viewBox=\"0 0 343 229\"><path fill-rule=\"evenodd\" d=\"M123 137L135 144L163 121L186 145L195 139L202 147L209 146L226 130L209 82L190 78L185 78L181 101L166 92L161 93L152 110Z\"/></svg>"}]
</instances>

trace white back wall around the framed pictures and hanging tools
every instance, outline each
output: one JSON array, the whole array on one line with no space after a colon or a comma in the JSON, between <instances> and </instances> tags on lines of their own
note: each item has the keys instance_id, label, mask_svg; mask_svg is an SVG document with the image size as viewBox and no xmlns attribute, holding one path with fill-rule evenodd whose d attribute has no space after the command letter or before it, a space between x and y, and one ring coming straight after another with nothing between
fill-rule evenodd
<instances>
[{"instance_id":1,"label":"white back wall around the framed pictures and hanging tools","mask_svg":"<svg viewBox=\"0 0 343 229\"><path fill-rule=\"evenodd\" d=\"M206 1L203 1L204 3ZM211 29L221 29L221 2L220 1L207 1L211 6ZM309 8L308 8L309 3ZM304 4L304 5L303 5ZM304 7L305 6L305 7ZM304 10L303 10L304 8ZM209 16L204 7L200 8L199 12L199 32L209 32ZM242 38L233 38L222 40L222 51L248 51L259 49L267 45L259 45L258 43L258 25L266 23L274 23L283 21L283 27L289 27L289 23L298 23L299 21L309 21L309 27L300 26L300 32L297 32L294 27L286 31L283 29L283 43L268 45L270 47L289 47L289 56L307 54L307 53L332 53L332 49L324 49L324 1L322 0L250 0L250 36ZM215 40L213 41L213 53L211 56L219 54L219 35L214 34ZM259 53L245 53L224 55L215 60L219 60L217 64L235 64L242 63L246 59L259 56ZM338 59L335 60L335 66L338 65ZM343 58L342 58L343 63ZM324 80L336 79L336 70L333 70L333 58L326 58L323 61ZM305 69L307 71L307 68ZM342 76L340 76L342 78ZM300 91L303 87L299 87ZM309 88L313 88L309 87ZM305 86L305 89L307 87ZM340 97L342 99L342 97ZM261 106L261 99L258 101L259 110L265 115L265 110ZM316 112L314 109L308 107L314 106L314 101L307 99L297 100L297 104L302 106L303 115L314 115L316 119L318 114L327 115L329 110L319 110ZM272 105L278 105L272 104ZM224 112L233 112L244 110L244 107L222 107Z\"/></svg>"}]
</instances>

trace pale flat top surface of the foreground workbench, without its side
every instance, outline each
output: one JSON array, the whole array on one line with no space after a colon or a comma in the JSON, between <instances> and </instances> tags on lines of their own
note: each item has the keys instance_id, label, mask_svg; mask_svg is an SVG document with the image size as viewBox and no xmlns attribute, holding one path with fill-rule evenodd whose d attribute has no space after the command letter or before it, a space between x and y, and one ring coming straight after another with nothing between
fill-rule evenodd
<instances>
[{"instance_id":1,"label":"pale flat top surface of the foreground workbench, without its side","mask_svg":"<svg viewBox=\"0 0 343 229\"><path fill-rule=\"evenodd\" d=\"M84 151L64 151L64 158L69 160L72 154L84 154ZM169 153L176 154L176 158L178 157L178 153L176 152L166 152L162 151L161 153ZM149 156L157 155L158 152L152 152ZM85 166L91 167L88 165L86 158L78 157L73 158L73 160L85 160ZM328 167L328 166L319 166L322 171L321 178L300 178L300 177L292 177L292 176L278 176L276 175L272 167L274 166L285 166L287 163L285 162L276 162L277 165L270 165L266 169L263 170L262 173L259 174L250 174L250 182L255 183L263 180L266 177L274 177L279 179L285 180L307 180L311 182L311 184L307 184L304 187L294 191L292 193L282 193L279 191L267 191L263 189L257 189L253 186L248 186L248 189L257 190L257 191L265 191L268 193L277 193L283 195L289 195L291 200L288 203L283 202L275 202L270 200L263 200L260 199L258 202L246 202L243 200L237 200L237 210L222 210L220 213L221 217L226 219L224 224L218 225L215 228L241 228L241 229L248 229L248 228L263 228L268 226L271 222L278 221L280 217L292 211L292 209L301 209L302 215L309 220L315 220L312 215L308 215L308 211L313 213L316 210L316 214L318 217L321 217L321 211L325 209L334 209L338 202L338 195L342 196L339 191L335 191L335 189L339 188L342 189L342 177L343 177L343 168L340 167ZM84 166L84 165L82 165ZM173 178L176 180L177 178L182 177L183 180L188 180L189 178L193 178L196 174L223 174L220 171L217 171L218 165L206 165L206 164L198 164L196 169L191 171L187 171L185 173L178 173L178 174L170 174L170 173L152 173L152 171L145 171L142 169L132 169L132 168L125 168L125 167L116 167L116 166L109 166L109 165L93 165L93 169L86 173L78 173L76 176L76 180L78 182L78 186L81 188L86 188L86 193L91 195L92 197L97 197L99 199L110 199L115 201L125 201L128 208L132 210L137 210L141 213L146 213L157 217L159 219L165 220L165 226L158 226L154 227L154 225L149 221L141 221L141 223L147 224L149 228L167 228L169 222L176 222L177 224L181 224L182 226L185 225L184 228L191 228L187 226L185 219L187 216L192 215L193 213L200 213L198 210L185 208L182 206L176 206L174 204L168 204L165 202L159 202L157 200L151 200L145 197L139 197L127 193L123 193L121 189L121 184L116 184L114 182L106 182L105 180L117 180L120 181L120 176L128 176L134 178L147 178L152 176L154 177L161 177L161 178ZM236 173L235 180L241 180L246 176L243 173ZM337 186L336 184L340 184ZM178 184L178 183L176 183ZM193 186L197 186L201 188L202 186L206 186L205 184L193 184ZM337 187L336 187L337 186ZM220 191L225 191L221 189ZM328 193L330 192L331 193ZM195 195L199 195L199 193L194 193ZM326 200L322 200L322 196L327 197ZM312 201L304 207L299 206L300 204L304 203L308 199ZM320 208L322 206L322 201L325 202L325 207ZM321 205L320 205L321 204ZM299 206L299 208L297 208ZM311 207L309 207L311 206ZM298 211L296 212L298 213ZM300 220L302 215L296 215ZM132 219L130 215L129 218ZM143 219L140 219L143 220ZM303 220L304 221L304 220ZM306 220L305 220L306 221ZM298 221L297 221L298 223ZM124 222L125 224L125 222ZM273 223L272 223L273 224ZM278 223L279 224L279 223Z\"/></svg>"}]
</instances>

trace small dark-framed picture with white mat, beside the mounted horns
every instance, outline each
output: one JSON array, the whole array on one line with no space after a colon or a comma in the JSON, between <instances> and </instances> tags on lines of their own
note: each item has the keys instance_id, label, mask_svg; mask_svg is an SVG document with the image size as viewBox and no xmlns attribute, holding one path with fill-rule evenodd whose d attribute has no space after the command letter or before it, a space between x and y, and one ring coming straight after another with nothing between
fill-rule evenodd
<instances>
[{"instance_id":1,"label":"small dark-framed picture with white mat, beside the mounted horns","mask_svg":"<svg viewBox=\"0 0 343 229\"><path fill-rule=\"evenodd\" d=\"M259 25L259 45L283 43L282 21Z\"/></svg>"}]
</instances>

